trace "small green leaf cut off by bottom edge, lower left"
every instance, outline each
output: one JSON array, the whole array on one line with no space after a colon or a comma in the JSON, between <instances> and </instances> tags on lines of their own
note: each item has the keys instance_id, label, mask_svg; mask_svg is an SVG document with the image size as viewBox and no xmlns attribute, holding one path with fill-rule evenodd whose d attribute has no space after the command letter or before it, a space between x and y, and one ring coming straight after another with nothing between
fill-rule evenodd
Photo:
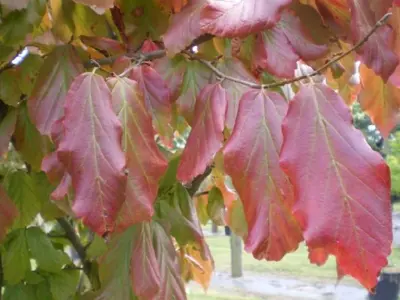
<instances>
[{"instance_id":1,"label":"small green leaf cut off by bottom edge, lower left","mask_svg":"<svg viewBox=\"0 0 400 300\"><path fill-rule=\"evenodd\" d=\"M76 292L79 275L78 270L63 270L61 273L52 274L49 283L54 300L69 300Z\"/></svg>"}]
</instances>

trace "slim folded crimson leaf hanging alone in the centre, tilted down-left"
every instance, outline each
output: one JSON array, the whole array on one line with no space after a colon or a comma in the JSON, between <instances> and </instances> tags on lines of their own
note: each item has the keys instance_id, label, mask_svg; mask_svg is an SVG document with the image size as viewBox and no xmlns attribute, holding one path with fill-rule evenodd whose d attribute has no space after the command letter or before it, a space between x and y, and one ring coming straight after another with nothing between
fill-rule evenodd
<instances>
[{"instance_id":1,"label":"slim folded crimson leaf hanging alone in the centre, tilted down-left","mask_svg":"<svg viewBox=\"0 0 400 300\"><path fill-rule=\"evenodd\" d=\"M201 90L192 131L178 166L179 181L190 182L202 174L222 147L226 107L227 92L219 83Z\"/></svg>"}]
</instances>

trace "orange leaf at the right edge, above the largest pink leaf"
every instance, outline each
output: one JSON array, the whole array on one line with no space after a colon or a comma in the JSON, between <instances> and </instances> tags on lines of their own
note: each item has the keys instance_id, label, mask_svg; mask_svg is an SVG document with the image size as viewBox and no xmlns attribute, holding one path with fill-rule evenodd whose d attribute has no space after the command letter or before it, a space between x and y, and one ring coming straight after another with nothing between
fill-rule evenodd
<instances>
[{"instance_id":1,"label":"orange leaf at the right edge, above the largest pink leaf","mask_svg":"<svg viewBox=\"0 0 400 300\"><path fill-rule=\"evenodd\" d=\"M360 66L362 89L358 96L361 108L371 117L384 137L400 122L400 90L385 82L365 65Z\"/></svg>"}]
</instances>

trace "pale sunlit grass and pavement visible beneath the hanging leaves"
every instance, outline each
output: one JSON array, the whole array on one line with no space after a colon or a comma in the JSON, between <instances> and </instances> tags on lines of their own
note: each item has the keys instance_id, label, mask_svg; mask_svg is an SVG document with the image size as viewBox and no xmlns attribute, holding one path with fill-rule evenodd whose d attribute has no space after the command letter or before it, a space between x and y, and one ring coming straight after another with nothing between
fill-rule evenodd
<instances>
[{"instance_id":1,"label":"pale sunlit grass and pavement visible beneath the hanging leaves","mask_svg":"<svg viewBox=\"0 0 400 300\"><path fill-rule=\"evenodd\" d=\"M394 214L393 225L400 228L397 214ZM396 236L398 232L394 231ZM215 274L207 293L197 284L189 284L189 300L347 300L349 294L353 300L366 299L365 289L349 277L336 285L334 258L322 267L311 265L304 244L280 262L258 261L243 253L244 276L232 279L229 237L222 232L211 235L209 228L205 229L205 233L215 260ZM393 248L389 263L400 267L399 248Z\"/></svg>"}]
</instances>

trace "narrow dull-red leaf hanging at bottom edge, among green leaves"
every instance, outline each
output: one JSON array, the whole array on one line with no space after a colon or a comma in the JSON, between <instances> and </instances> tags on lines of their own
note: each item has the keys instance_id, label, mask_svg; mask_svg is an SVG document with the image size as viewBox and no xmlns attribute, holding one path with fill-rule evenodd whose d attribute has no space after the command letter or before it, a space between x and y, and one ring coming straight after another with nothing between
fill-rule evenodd
<instances>
[{"instance_id":1,"label":"narrow dull-red leaf hanging at bottom edge, among green leaves","mask_svg":"<svg viewBox=\"0 0 400 300\"><path fill-rule=\"evenodd\" d=\"M160 290L160 268L153 247L153 226L150 223L136 225L131 256L131 280L133 292L139 299L155 299Z\"/></svg>"}]
</instances>

